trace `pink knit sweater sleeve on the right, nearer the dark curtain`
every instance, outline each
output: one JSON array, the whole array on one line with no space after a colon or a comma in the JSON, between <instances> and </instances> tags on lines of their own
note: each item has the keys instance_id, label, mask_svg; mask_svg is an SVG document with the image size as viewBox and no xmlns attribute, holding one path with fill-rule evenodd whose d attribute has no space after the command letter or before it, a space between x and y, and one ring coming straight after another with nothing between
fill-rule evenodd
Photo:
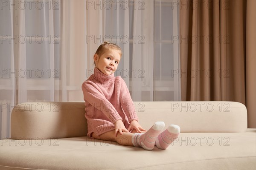
<instances>
[{"instance_id":1,"label":"pink knit sweater sleeve on the right, nearer the dark curtain","mask_svg":"<svg viewBox=\"0 0 256 170\"><path fill-rule=\"evenodd\" d=\"M124 111L125 115L128 117L129 123L132 120L139 120L137 113L135 111L134 103L131 99L130 92L125 84L125 81L120 77L121 82L121 92L120 92L120 103L122 110Z\"/></svg>"}]
</instances>

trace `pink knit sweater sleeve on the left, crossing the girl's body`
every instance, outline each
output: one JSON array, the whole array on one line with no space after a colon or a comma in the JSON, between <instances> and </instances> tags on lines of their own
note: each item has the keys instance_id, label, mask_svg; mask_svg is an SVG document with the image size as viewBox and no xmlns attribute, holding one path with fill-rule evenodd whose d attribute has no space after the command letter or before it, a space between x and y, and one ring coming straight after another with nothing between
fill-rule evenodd
<instances>
[{"instance_id":1,"label":"pink knit sweater sleeve on the left, crossing the girl's body","mask_svg":"<svg viewBox=\"0 0 256 170\"><path fill-rule=\"evenodd\" d=\"M91 105L96 105L98 110L102 111L108 119L114 124L118 120L122 120L116 109L111 102L100 93L100 88L93 82L85 81L82 85L84 94L84 101L89 102Z\"/></svg>"}]
</instances>

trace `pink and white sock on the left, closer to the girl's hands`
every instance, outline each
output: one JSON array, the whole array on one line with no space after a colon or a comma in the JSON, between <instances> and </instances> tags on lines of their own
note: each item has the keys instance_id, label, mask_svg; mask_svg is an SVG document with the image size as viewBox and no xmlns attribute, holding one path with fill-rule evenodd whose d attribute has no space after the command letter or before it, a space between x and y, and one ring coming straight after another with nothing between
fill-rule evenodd
<instances>
[{"instance_id":1,"label":"pink and white sock on the left, closer to the girl's hands","mask_svg":"<svg viewBox=\"0 0 256 170\"><path fill-rule=\"evenodd\" d=\"M155 145L157 136L163 130L164 122L155 122L154 125L145 133L134 133L131 142L136 147L143 147L145 150L152 150Z\"/></svg>"}]
</instances>

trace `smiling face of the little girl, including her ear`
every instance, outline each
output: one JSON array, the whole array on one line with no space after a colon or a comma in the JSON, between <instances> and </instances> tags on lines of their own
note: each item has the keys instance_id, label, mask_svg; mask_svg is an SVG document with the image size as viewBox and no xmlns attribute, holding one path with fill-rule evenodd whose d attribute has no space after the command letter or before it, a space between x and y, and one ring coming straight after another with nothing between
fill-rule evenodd
<instances>
[{"instance_id":1,"label":"smiling face of the little girl, including her ear","mask_svg":"<svg viewBox=\"0 0 256 170\"><path fill-rule=\"evenodd\" d=\"M111 50L106 51L100 57L98 54L94 54L93 59L96 68L98 68L103 74L109 76L116 71L121 57L117 50Z\"/></svg>"}]
</instances>

